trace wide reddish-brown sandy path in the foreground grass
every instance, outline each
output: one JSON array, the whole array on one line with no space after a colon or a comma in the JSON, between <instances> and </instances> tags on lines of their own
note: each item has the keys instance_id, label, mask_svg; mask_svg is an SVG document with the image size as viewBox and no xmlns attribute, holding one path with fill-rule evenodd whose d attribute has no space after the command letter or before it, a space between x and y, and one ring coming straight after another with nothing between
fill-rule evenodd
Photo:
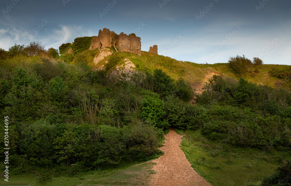
<instances>
[{"instance_id":1,"label":"wide reddish-brown sandy path in the foreground grass","mask_svg":"<svg viewBox=\"0 0 291 186\"><path fill-rule=\"evenodd\" d=\"M186 159L180 148L182 136L170 128L165 138L165 144L160 148L165 155L152 161L156 163L153 169L157 173L152 176L149 186L210 186Z\"/></svg>"}]
</instances>

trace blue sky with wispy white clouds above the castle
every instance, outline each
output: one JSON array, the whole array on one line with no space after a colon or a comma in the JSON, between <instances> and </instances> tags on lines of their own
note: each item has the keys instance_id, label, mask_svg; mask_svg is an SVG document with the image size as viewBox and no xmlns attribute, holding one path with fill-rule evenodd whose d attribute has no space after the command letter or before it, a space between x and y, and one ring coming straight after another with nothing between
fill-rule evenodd
<instances>
[{"instance_id":1,"label":"blue sky with wispy white clouds above the castle","mask_svg":"<svg viewBox=\"0 0 291 186\"><path fill-rule=\"evenodd\" d=\"M106 11L104 11L104 9ZM0 47L40 41L49 47L108 28L136 33L141 50L195 63L260 57L291 65L290 0L1 0Z\"/></svg>"}]
</instances>

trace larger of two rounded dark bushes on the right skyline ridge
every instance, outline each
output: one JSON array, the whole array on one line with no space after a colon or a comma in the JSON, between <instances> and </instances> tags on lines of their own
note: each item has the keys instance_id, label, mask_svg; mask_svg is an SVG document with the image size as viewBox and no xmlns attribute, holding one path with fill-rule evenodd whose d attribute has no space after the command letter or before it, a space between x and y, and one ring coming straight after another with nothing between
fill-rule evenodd
<instances>
[{"instance_id":1,"label":"larger of two rounded dark bushes on the right skyline ridge","mask_svg":"<svg viewBox=\"0 0 291 186\"><path fill-rule=\"evenodd\" d=\"M247 59L244 55L237 55L236 57L230 57L229 59L230 60L228 62L230 67L242 77L244 77L249 67L252 65L251 60Z\"/></svg>"}]
</instances>

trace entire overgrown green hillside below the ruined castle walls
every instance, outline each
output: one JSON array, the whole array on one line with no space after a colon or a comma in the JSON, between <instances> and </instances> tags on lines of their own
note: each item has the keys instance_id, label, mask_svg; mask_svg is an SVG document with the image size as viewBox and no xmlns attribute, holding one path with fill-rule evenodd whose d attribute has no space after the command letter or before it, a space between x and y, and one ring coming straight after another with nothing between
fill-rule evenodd
<instances>
[{"instance_id":1,"label":"entire overgrown green hillside below the ruined castle walls","mask_svg":"<svg viewBox=\"0 0 291 186\"><path fill-rule=\"evenodd\" d=\"M278 87L290 87L289 66L249 64L242 78L228 63L89 50L91 39L62 45L61 56L53 48L20 45L0 51L0 114L10 124L1 138L9 136L10 171L17 180L146 185L156 173L148 161L162 157L153 169L168 165L173 156L159 149L173 152L180 135L183 152L174 150L176 158L184 153L187 172L193 172L191 164L212 185L262 185L286 177L291 93ZM163 148L170 127L180 135L171 130ZM160 178L168 172L160 172L155 181L166 184Z\"/></svg>"}]
</instances>

